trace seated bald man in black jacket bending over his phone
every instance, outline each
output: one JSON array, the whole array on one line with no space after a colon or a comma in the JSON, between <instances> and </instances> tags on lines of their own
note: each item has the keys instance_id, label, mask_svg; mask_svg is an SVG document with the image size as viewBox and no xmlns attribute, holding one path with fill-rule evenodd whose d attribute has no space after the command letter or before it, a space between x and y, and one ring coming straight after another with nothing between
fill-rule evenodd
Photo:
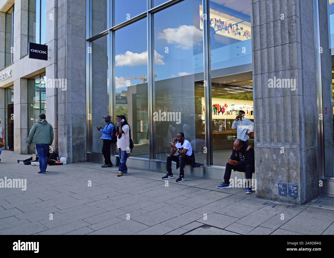
<instances>
[{"instance_id":1,"label":"seated bald man in black jacket bending over his phone","mask_svg":"<svg viewBox=\"0 0 334 258\"><path fill-rule=\"evenodd\" d=\"M252 175L255 171L254 149L251 145L236 139L233 143L232 155L226 163L224 181L217 188L230 188L231 171L246 172L246 194L252 193Z\"/></svg>"}]
</instances>

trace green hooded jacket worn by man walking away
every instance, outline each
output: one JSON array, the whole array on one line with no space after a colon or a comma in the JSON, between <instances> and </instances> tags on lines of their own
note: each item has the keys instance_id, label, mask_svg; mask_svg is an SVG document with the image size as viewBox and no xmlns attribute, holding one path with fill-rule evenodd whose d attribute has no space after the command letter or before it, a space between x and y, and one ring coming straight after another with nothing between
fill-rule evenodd
<instances>
[{"instance_id":1,"label":"green hooded jacket worn by man walking away","mask_svg":"<svg viewBox=\"0 0 334 258\"><path fill-rule=\"evenodd\" d=\"M53 142L52 126L45 119L39 119L36 123L32 125L26 143L51 145L52 142Z\"/></svg>"}]
</instances>

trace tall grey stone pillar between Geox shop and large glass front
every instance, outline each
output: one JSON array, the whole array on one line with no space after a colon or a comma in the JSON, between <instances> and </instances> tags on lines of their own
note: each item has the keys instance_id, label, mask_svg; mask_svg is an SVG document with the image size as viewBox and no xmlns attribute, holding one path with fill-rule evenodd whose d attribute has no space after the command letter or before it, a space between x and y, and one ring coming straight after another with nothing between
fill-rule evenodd
<instances>
[{"instance_id":1,"label":"tall grey stone pillar between Geox shop and large glass front","mask_svg":"<svg viewBox=\"0 0 334 258\"><path fill-rule=\"evenodd\" d=\"M59 156L86 161L86 2L58 0L57 71Z\"/></svg>"}]
</instances>

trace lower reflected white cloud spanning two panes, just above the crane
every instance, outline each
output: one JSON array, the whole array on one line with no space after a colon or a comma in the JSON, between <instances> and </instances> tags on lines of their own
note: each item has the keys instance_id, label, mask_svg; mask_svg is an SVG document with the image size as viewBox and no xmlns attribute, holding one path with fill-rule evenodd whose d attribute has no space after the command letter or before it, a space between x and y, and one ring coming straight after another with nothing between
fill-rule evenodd
<instances>
[{"instance_id":1,"label":"lower reflected white cloud spanning two panes, just above the crane","mask_svg":"<svg viewBox=\"0 0 334 258\"><path fill-rule=\"evenodd\" d=\"M125 54L119 54L115 56L116 66L136 66L136 65L147 65L147 51L142 53L133 53L131 51L126 51ZM165 64L162 59L163 55L160 55L156 50L154 50L155 64L163 65Z\"/></svg>"}]
</instances>

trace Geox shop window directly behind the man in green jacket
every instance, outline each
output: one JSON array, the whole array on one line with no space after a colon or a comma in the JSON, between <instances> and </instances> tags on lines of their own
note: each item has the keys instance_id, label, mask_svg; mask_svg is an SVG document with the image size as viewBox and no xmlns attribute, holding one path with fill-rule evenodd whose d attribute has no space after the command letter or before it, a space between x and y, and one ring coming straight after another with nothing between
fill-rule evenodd
<instances>
[{"instance_id":1,"label":"Geox shop window directly behind the man in green jacket","mask_svg":"<svg viewBox=\"0 0 334 258\"><path fill-rule=\"evenodd\" d=\"M28 80L28 133L39 114L46 114L45 74ZM35 153L35 145L28 146L28 153Z\"/></svg>"}]
</instances>

